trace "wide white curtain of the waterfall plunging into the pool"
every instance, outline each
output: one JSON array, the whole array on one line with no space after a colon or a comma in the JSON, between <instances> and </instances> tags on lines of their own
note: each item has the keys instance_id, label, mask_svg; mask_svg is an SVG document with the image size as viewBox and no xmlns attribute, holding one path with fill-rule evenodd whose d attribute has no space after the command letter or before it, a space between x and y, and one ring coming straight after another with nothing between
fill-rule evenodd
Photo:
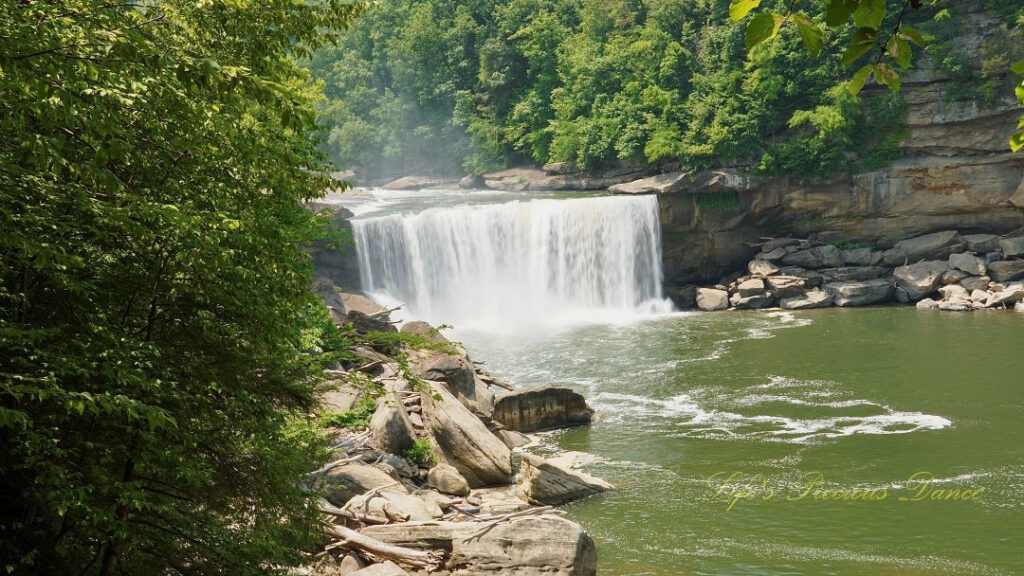
<instances>
[{"instance_id":1,"label":"wide white curtain of the waterfall plunging into the pool","mask_svg":"<svg viewBox=\"0 0 1024 576\"><path fill-rule=\"evenodd\" d=\"M662 301L657 199L431 208L352 220L364 288L431 323L509 326Z\"/></svg>"}]
</instances>

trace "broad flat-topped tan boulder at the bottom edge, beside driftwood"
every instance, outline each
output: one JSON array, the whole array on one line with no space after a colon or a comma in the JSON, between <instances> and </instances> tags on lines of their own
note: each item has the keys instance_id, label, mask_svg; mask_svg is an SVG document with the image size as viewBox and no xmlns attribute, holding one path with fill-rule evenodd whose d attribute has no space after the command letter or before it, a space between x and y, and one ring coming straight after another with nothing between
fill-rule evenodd
<instances>
[{"instance_id":1,"label":"broad flat-topped tan boulder at the bottom edge, beside driftwood","mask_svg":"<svg viewBox=\"0 0 1024 576\"><path fill-rule=\"evenodd\" d=\"M474 522L407 522L360 532L388 544L451 550L452 576L596 576L597 548L574 522L531 516L481 527Z\"/></svg>"}]
</instances>

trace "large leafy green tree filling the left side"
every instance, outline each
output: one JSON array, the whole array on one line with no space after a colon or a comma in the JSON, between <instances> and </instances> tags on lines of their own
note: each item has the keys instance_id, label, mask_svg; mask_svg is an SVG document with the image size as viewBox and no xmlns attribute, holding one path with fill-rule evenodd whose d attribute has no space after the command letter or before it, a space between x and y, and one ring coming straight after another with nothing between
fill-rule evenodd
<instances>
[{"instance_id":1,"label":"large leafy green tree filling the left side","mask_svg":"<svg viewBox=\"0 0 1024 576\"><path fill-rule=\"evenodd\" d=\"M0 563L265 574L316 527L326 187L304 56L339 0L0 5Z\"/></svg>"}]
</instances>

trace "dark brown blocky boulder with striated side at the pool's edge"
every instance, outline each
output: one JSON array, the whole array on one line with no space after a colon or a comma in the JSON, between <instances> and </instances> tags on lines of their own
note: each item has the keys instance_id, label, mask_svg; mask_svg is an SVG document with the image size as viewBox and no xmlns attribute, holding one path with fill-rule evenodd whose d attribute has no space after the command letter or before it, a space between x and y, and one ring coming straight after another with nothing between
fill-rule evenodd
<instances>
[{"instance_id":1,"label":"dark brown blocky boulder with striated side at the pool's edge","mask_svg":"<svg viewBox=\"0 0 1024 576\"><path fill-rule=\"evenodd\" d=\"M594 410L572 388L546 385L499 395L493 417L506 428L529 433L590 423Z\"/></svg>"}]
</instances>

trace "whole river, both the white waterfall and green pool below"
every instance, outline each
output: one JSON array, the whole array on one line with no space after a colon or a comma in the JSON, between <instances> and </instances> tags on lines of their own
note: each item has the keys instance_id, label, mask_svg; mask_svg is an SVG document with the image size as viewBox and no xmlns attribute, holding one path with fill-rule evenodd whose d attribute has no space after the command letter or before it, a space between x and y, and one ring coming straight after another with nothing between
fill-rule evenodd
<instances>
[{"instance_id":1,"label":"whole river, both the white waterfall and green pool below","mask_svg":"<svg viewBox=\"0 0 1024 576\"><path fill-rule=\"evenodd\" d=\"M672 312L646 259L659 250L650 201L539 206L452 191L343 202L360 254L390 218L391 241L404 238L392 263L426 266L385 279L366 261L378 297L454 325L450 337L508 381L587 396L595 422L538 450L578 452L618 487L568 507L602 574L1024 574L1024 315ZM442 220L443 245L431 236ZM536 238L575 252L512 240L539 222Z\"/></svg>"}]
</instances>

